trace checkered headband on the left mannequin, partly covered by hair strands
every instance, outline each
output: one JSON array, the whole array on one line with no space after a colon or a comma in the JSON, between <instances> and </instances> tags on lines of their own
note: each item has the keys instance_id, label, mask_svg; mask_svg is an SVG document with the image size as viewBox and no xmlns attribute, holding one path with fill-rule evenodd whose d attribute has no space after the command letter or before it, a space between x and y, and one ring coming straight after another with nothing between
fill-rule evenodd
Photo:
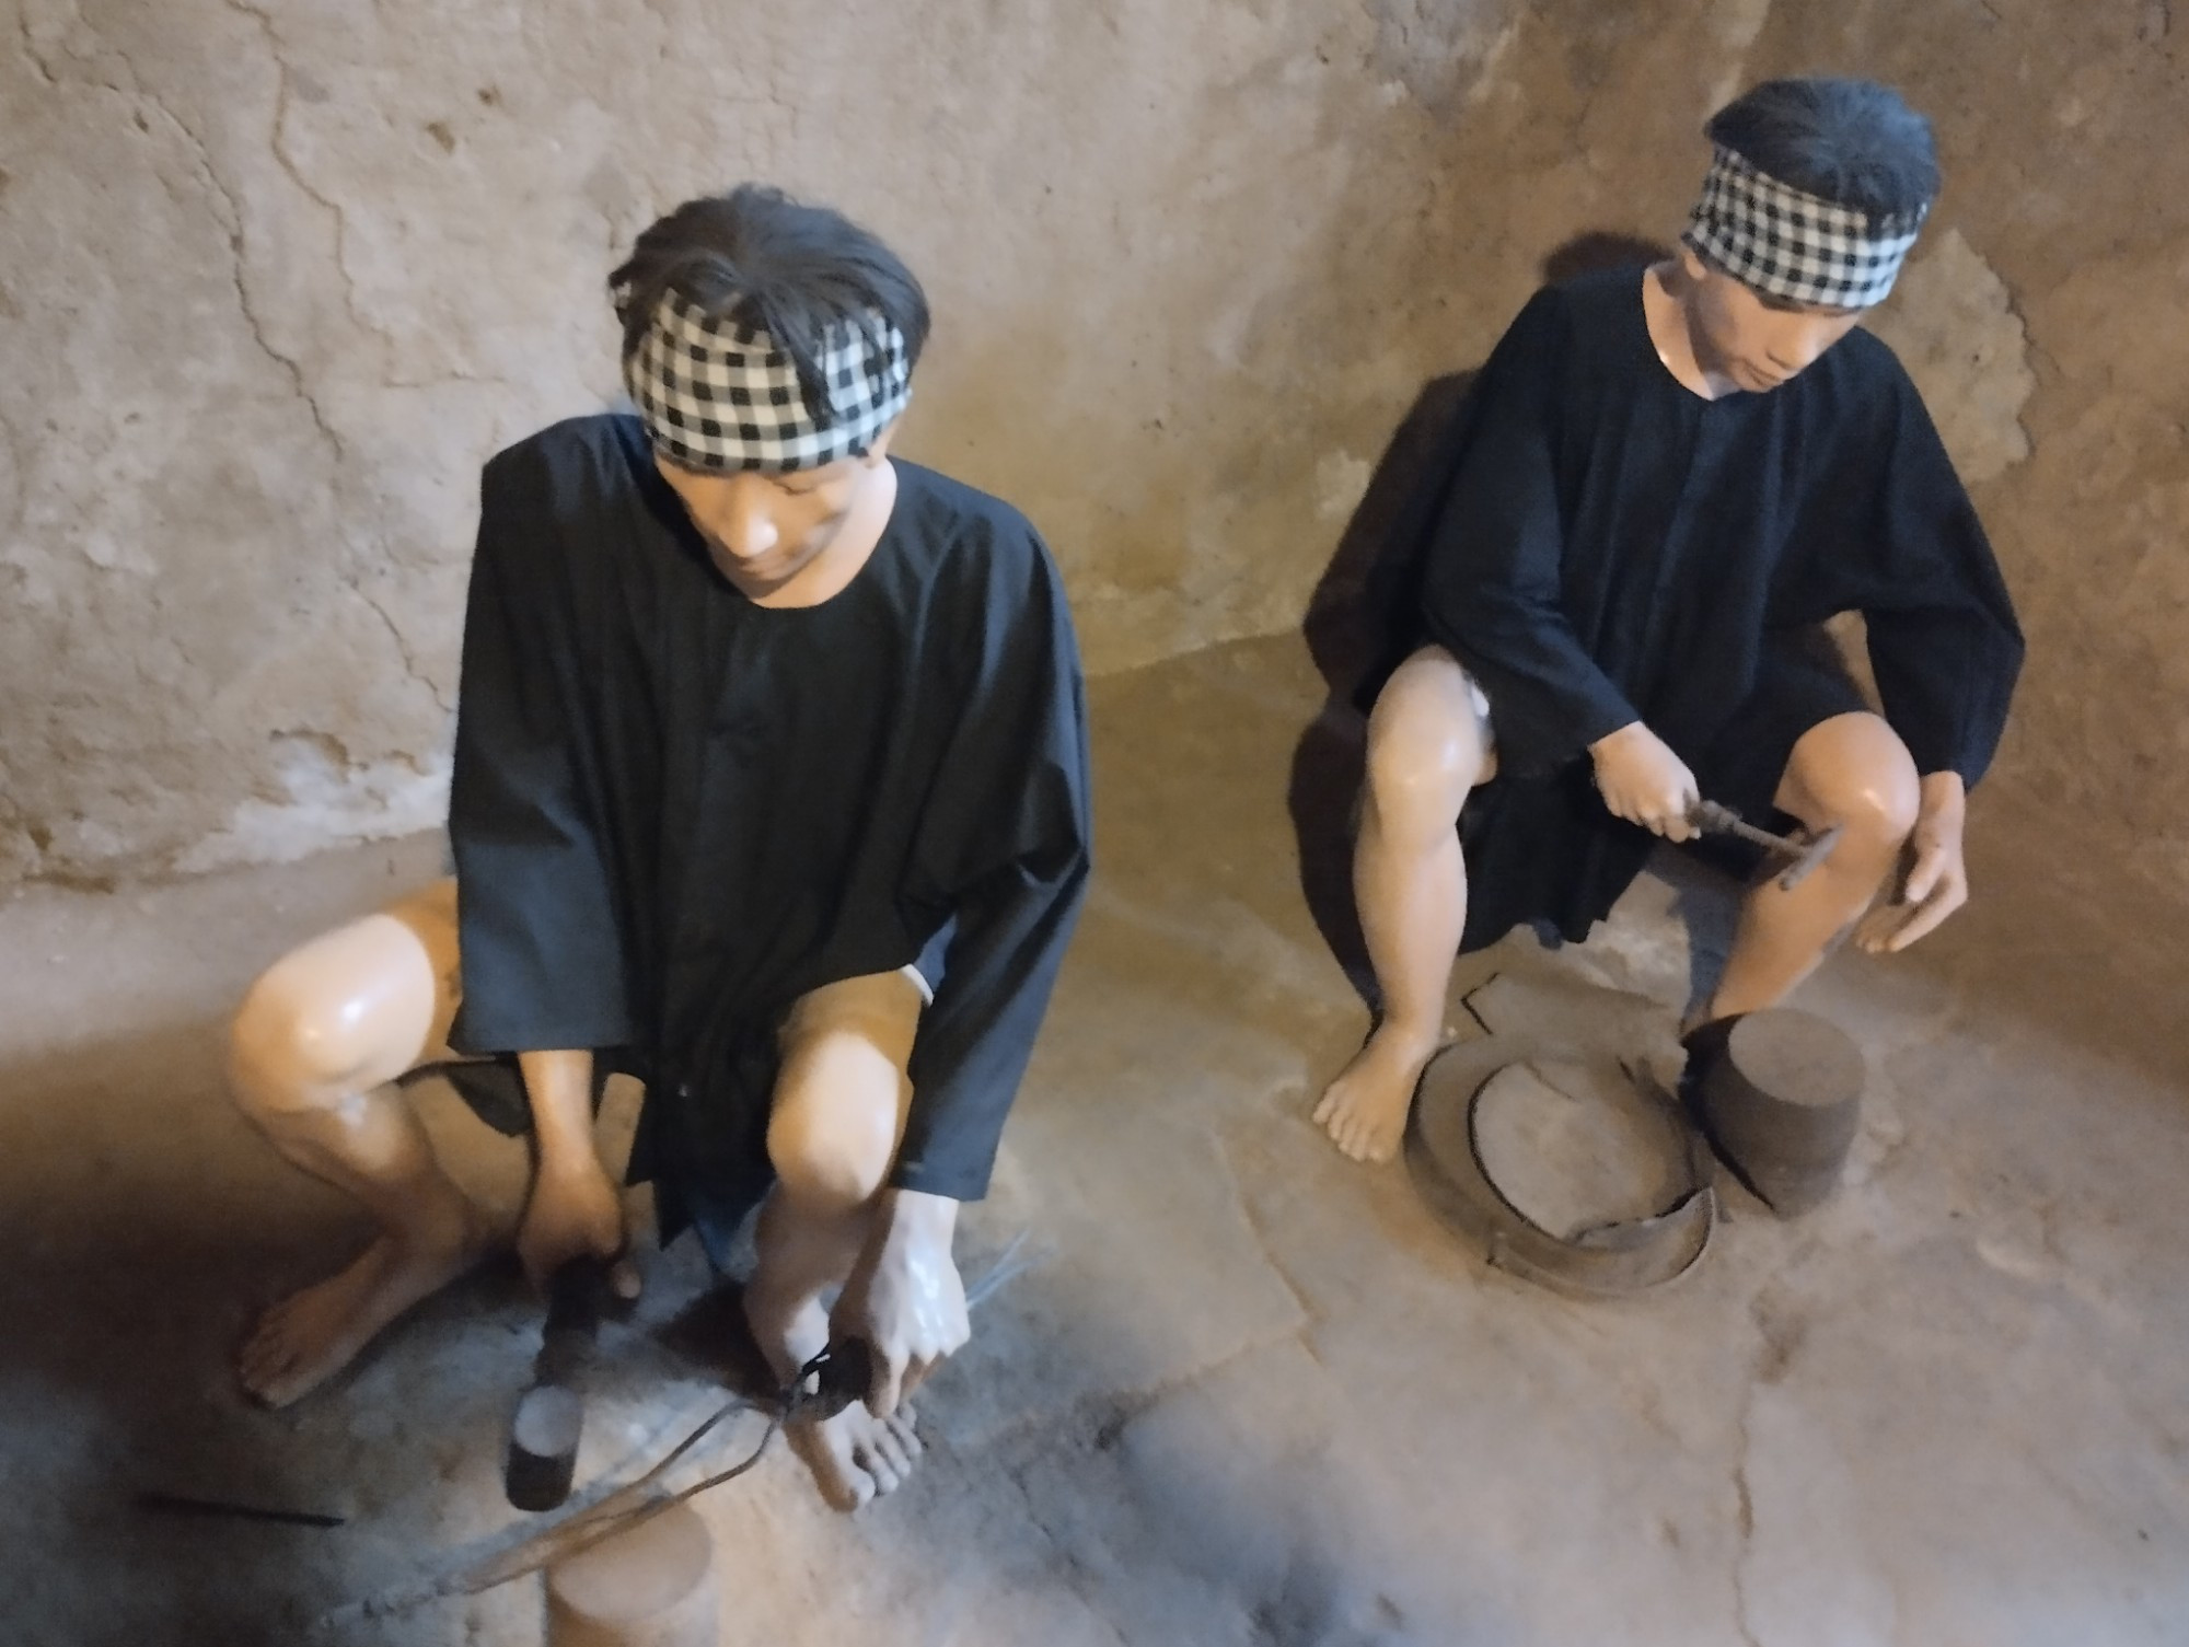
<instances>
[{"instance_id":1,"label":"checkered headband on the left mannequin, partly covered by hair strands","mask_svg":"<svg viewBox=\"0 0 2189 1647\"><path fill-rule=\"evenodd\" d=\"M674 291L655 304L624 383L655 451L681 469L819 469L856 458L913 399L904 335L880 315L834 322L816 350L827 416L816 421L790 355L757 326L709 320Z\"/></svg>"}]
</instances>

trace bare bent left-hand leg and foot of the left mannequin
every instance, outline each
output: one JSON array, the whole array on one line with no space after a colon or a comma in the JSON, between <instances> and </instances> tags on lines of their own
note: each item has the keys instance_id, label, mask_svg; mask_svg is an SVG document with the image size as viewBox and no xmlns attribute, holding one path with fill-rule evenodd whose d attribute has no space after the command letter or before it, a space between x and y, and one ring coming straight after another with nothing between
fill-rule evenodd
<instances>
[{"instance_id":1,"label":"bare bent left-hand leg and foot of the left mannequin","mask_svg":"<svg viewBox=\"0 0 2189 1647\"><path fill-rule=\"evenodd\" d=\"M236 1371L269 1406L346 1367L486 1244L479 1211L433 1161L409 1104L383 1091L427 1056L447 1056L453 977L453 883L440 883L291 951L236 1012L236 1104L287 1161L379 1224L348 1268L267 1310L245 1340Z\"/></svg>"}]
</instances>

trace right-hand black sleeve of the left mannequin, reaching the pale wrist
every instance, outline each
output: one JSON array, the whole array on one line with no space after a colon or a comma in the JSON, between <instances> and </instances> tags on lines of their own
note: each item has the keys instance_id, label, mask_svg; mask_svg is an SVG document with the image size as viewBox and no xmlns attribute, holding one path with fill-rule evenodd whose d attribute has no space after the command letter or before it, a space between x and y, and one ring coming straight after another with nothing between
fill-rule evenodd
<instances>
[{"instance_id":1,"label":"right-hand black sleeve of the left mannequin, reaching the pale wrist","mask_svg":"<svg viewBox=\"0 0 2189 1647\"><path fill-rule=\"evenodd\" d=\"M954 915L913 1040L891 1178L978 1200L1033 1056L1090 865L1086 688L1055 565L1027 528L992 565L978 659L922 817L911 894Z\"/></svg>"}]
</instances>

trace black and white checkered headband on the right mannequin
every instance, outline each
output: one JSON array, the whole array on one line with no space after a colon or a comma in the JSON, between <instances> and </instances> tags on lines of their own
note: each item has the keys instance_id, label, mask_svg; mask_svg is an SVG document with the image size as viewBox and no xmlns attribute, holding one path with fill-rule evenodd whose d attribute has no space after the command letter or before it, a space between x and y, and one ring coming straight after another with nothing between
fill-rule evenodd
<instances>
[{"instance_id":1,"label":"black and white checkered headband on the right mannequin","mask_svg":"<svg viewBox=\"0 0 2189 1647\"><path fill-rule=\"evenodd\" d=\"M1872 217L1782 184L1718 147L1681 239L1756 291L1867 309L1893 289L1929 210Z\"/></svg>"}]
</instances>

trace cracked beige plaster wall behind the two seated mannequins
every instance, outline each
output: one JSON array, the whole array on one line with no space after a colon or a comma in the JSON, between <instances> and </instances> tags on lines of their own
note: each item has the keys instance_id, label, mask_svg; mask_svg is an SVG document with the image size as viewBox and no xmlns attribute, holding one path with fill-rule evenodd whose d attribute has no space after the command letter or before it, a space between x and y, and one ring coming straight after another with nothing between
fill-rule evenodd
<instances>
[{"instance_id":1,"label":"cracked beige plaster wall behind the two seated mannequins","mask_svg":"<svg viewBox=\"0 0 2189 1647\"><path fill-rule=\"evenodd\" d=\"M906 252L906 449L1027 506L1116 670L1298 622L1548 252L1670 234L1716 101L1852 70L1944 142L1878 329L2027 618L2001 791L2189 889L2167 0L0 15L0 880L433 824L477 464L613 394L600 280L690 193L777 180Z\"/></svg>"}]
</instances>

